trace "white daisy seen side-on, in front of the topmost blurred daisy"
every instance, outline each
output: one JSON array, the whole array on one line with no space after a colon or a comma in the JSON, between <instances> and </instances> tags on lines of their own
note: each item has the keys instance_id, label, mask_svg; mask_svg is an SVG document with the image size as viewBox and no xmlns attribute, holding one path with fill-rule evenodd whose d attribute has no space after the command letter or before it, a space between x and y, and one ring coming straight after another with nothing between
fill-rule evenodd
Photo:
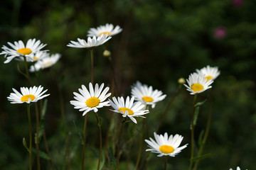
<instances>
[{"instance_id":1,"label":"white daisy seen side-on, in front of the topmost blurred daisy","mask_svg":"<svg viewBox=\"0 0 256 170\"><path fill-rule=\"evenodd\" d=\"M107 42L107 40L110 40L110 38L112 38L112 37L109 37L107 35L100 35L97 38L96 38L96 36L93 36L92 38L88 37L87 42L85 40L78 38L78 42L70 41L71 43L69 43L67 46L68 47L77 47L77 48L96 47L96 46L104 44L105 42Z\"/></svg>"}]
</instances>

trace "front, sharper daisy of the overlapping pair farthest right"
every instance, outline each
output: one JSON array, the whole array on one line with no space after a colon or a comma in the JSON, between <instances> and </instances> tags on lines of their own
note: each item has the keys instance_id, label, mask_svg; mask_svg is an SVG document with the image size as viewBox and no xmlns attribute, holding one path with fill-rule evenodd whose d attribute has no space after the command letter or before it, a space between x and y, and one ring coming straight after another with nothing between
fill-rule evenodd
<instances>
[{"instance_id":1,"label":"front, sharper daisy of the overlapping pair farthest right","mask_svg":"<svg viewBox=\"0 0 256 170\"><path fill-rule=\"evenodd\" d=\"M210 84L213 83L213 80L207 81L203 75L192 73L189 75L188 79L186 79L188 85L184 84L186 86L187 91L190 91L191 95L194 94L200 94L203 91L206 91L207 89L210 89Z\"/></svg>"}]
</instances>

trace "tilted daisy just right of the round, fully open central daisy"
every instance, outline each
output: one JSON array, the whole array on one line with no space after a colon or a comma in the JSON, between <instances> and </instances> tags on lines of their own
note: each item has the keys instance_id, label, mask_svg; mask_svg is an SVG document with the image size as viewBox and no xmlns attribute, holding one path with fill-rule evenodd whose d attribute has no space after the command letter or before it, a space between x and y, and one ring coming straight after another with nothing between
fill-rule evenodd
<instances>
[{"instance_id":1,"label":"tilted daisy just right of the round, fully open central daisy","mask_svg":"<svg viewBox=\"0 0 256 170\"><path fill-rule=\"evenodd\" d=\"M134 97L130 99L129 96L127 96L125 102L123 97L113 97L112 100L114 102L109 99L110 105L114 110L110 111L121 113L124 118L128 116L134 123L137 123L134 117L145 118L142 115L149 113L149 110L144 110L144 105L141 102L137 101L134 103Z\"/></svg>"}]
</instances>

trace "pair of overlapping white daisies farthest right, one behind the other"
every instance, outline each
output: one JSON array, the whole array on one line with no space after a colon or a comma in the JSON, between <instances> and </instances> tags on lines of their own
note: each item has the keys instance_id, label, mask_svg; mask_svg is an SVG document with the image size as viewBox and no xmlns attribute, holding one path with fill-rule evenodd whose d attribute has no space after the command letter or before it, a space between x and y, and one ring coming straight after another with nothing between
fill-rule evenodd
<instances>
[{"instance_id":1,"label":"pair of overlapping white daisies farthest right, one behind the other","mask_svg":"<svg viewBox=\"0 0 256 170\"><path fill-rule=\"evenodd\" d=\"M203 67L202 69L196 69L196 72L191 73L186 79L188 84L184 84L191 95L200 94L207 89L210 89L213 80L220 75L218 67Z\"/></svg>"}]
</instances>

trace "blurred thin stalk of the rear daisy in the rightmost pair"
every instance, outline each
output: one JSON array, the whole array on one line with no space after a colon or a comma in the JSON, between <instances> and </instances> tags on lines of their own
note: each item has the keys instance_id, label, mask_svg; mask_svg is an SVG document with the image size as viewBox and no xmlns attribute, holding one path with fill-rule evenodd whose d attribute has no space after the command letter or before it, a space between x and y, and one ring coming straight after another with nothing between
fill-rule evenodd
<instances>
[{"instance_id":1,"label":"blurred thin stalk of the rear daisy in the rightmost pair","mask_svg":"<svg viewBox=\"0 0 256 170\"><path fill-rule=\"evenodd\" d=\"M212 103L211 103L211 98L209 98L209 110L208 110L208 120L207 120L207 125L206 125L206 133L203 136L203 141L202 141L201 146L198 151L198 157L200 157L203 152L203 147L206 144L206 140L207 140L207 137L208 137L208 134L210 131L211 114L212 114ZM199 160L196 161L196 164L195 164L193 170L197 169L198 163L199 163Z\"/></svg>"}]
</instances>

